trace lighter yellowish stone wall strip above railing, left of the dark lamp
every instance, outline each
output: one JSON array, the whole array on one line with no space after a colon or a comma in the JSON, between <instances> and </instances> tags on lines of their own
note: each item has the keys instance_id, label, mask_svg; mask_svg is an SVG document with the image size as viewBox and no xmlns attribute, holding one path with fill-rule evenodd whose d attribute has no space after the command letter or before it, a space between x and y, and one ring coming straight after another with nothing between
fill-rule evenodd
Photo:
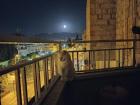
<instances>
[{"instance_id":1,"label":"lighter yellowish stone wall strip above railing, left of the dark lamp","mask_svg":"<svg viewBox=\"0 0 140 105\"><path fill-rule=\"evenodd\" d=\"M116 39L132 39L135 24L135 0L117 0Z\"/></svg>"}]
</instances>

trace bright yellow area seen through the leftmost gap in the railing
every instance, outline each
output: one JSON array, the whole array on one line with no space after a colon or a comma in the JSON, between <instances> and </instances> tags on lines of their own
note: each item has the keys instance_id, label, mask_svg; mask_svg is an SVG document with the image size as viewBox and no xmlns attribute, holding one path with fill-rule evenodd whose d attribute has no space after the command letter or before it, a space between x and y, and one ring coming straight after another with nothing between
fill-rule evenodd
<instances>
[{"instance_id":1,"label":"bright yellow area seen through the leftmost gap in the railing","mask_svg":"<svg viewBox=\"0 0 140 105\"><path fill-rule=\"evenodd\" d=\"M15 72L9 72L0 77L1 105L17 105Z\"/></svg>"}]
</instances>

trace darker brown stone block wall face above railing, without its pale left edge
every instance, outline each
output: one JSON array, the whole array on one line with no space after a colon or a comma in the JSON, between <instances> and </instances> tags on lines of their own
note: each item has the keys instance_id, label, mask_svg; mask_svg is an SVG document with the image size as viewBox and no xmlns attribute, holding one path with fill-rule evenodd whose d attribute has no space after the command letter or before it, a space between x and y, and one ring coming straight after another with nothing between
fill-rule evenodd
<instances>
[{"instance_id":1,"label":"darker brown stone block wall face above railing, without its pale left edge","mask_svg":"<svg viewBox=\"0 0 140 105\"><path fill-rule=\"evenodd\" d=\"M114 39L116 0L91 0L91 38Z\"/></svg>"}]
</instances>

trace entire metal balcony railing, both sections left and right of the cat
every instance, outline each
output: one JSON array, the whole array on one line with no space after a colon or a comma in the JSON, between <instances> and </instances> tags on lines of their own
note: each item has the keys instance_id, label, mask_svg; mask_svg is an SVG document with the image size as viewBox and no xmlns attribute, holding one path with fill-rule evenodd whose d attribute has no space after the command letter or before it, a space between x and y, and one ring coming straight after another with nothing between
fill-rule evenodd
<instances>
[{"instance_id":1,"label":"entire metal balcony railing, both sections left and right of the cat","mask_svg":"<svg viewBox=\"0 0 140 105\"><path fill-rule=\"evenodd\" d=\"M61 49L69 51L76 72L98 72L107 68L135 66L135 41L100 40L57 42L57 44L70 46ZM0 105L39 103L59 78L56 75L54 60L52 54L1 69Z\"/></svg>"}]
</instances>

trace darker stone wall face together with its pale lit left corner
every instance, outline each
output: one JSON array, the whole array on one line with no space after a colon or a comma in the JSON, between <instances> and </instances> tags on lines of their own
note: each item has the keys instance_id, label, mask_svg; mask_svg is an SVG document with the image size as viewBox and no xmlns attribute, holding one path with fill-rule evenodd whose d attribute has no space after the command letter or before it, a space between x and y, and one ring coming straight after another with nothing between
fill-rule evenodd
<instances>
[{"instance_id":1,"label":"darker stone wall face together with its pale lit left corner","mask_svg":"<svg viewBox=\"0 0 140 105\"><path fill-rule=\"evenodd\" d=\"M85 40L111 40L116 36L116 0L87 0ZM101 47L91 44L90 48ZM106 45L106 47L111 47Z\"/></svg>"}]
</instances>

